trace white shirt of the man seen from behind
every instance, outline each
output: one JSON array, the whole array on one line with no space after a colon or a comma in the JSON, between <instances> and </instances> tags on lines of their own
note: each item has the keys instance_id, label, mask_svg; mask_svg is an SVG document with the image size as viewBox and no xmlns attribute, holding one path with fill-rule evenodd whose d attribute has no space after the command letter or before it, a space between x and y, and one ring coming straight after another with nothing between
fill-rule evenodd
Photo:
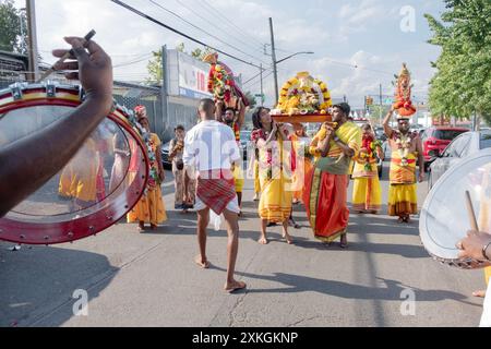
<instances>
[{"instance_id":1,"label":"white shirt of the man seen from behind","mask_svg":"<svg viewBox=\"0 0 491 349\"><path fill-rule=\"evenodd\" d=\"M218 121L202 121L185 135L182 160L199 172L230 169L241 155L233 131Z\"/></svg>"}]
</instances>

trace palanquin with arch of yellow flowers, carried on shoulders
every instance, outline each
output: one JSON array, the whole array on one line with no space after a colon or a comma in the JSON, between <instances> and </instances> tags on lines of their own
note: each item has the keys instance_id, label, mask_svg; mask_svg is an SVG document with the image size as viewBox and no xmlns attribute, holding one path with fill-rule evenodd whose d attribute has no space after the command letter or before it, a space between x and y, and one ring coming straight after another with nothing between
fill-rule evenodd
<instances>
[{"instance_id":1,"label":"palanquin with arch of yellow flowers, carried on shoulders","mask_svg":"<svg viewBox=\"0 0 491 349\"><path fill-rule=\"evenodd\" d=\"M272 116L282 122L325 122L332 120L332 105L327 85L309 72L300 72L283 85Z\"/></svg>"}]
</instances>

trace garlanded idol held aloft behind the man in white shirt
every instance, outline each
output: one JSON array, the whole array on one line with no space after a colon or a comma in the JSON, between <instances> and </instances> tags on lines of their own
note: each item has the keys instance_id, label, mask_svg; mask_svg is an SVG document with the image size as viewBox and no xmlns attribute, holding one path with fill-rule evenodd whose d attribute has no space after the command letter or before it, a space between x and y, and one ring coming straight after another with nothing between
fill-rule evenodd
<instances>
[{"instance_id":1,"label":"garlanded idol held aloft behind the man in white shirt","mask_svg":"<svg viewBox=\"0 0 491 349\"><path fill-rule=\"evenodd\" d=\"M218 61L218 53L209 53L203 61L211 64L207 89L213 94L215 103L223 101L225 108L238 109L239 99L241 98L244 106L248 107L249 99L237 86L231 69Z\"/></svg>"}]
</instances>

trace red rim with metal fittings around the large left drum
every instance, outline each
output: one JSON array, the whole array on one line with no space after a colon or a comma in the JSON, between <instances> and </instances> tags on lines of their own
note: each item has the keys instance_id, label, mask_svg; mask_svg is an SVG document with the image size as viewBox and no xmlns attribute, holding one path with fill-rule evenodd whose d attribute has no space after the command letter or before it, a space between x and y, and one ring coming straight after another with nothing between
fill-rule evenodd
<instances>
[{"instance_id":1,"label":"red rim with metal fittings around the large left drum","mask_svg":"<svg viewBox=\"0 0 491 349\"><path fill-rule=\"evenodd\" d=\"M62 89L64 93L71 94L71 95L77 95L77 99L67 99L63 98L63 96L53 96L48 97L47 95L45 97L34 98L34 99L24 99L20 98L7 104L2 104L8 98L11 98L13 95L12 88L20 88L23 92L24 95L28 95L29 93L33 93L33 91L43 89L46 91L48 87L48 84L32 84L32 85L25 85L25 84L15 84L11 85L9 88L4 88L0 91L0 113L5 113L12 110L17 110L22 108L28 108L28 107L36 107L36 106L60 106L60 107L73 107L76 108L77 106L82 105L83 100L80 98L80 86L76 85L61 85L56 84L56 91ZM8 96L8 93L10 92L11 96ZM144 143L142 136L134 130L134 128L131 125L129 121L129 112L128 109L123 106L120 106L115 103L115 108L109 112L109 115L106 117L119 127L121 127L124 131L127 131L137 143L137 146L141 149L141 154L143 155L143 161L145 164L149 164L148 156L146 154L146 144ZM121 116L119 116L120 113ZM98 209L97 212L89 214L87 216L84 216L79 219L73 219L69 221L61 221L61 222L25 222L25 221L19 221L10 218L0 218L0 240L3 241L10 241L10 242L19 242L23 244L32 244L32 245L38 245L38 244L59 244L59 243L67 243L67 242L73 242L76 240L81 240L84 238L87 238L89 236L95 236L100 231L104 231L105 229L111 227L113 224L118 222L120 219L122 219L131 209L131 205L128 205L128 202L134 202L135 204L141 200L141 197L144 194L148 177L149 177L149 168L148 166L144 167L144 173L141 173L141 171L137 172L137 176L144 176L144 185L142 189L134 188L136 184L133 183L133 185L129 186L125 195L127 198L130 198L127 201L127 205L124 205L124 214L118 215L118 217L111 216L111 214L119 209L119 207L116 207L117 204L119 204L117 201L113 201L112 205L105 205L103 208ZM137 190L137 192L136 192ZM119 197L119 196L118 196ZM107 197L106 197L107 198ZM103 201L104 202L104 201ZM104 216L104 217L103 217ZM109 219L110 218L110 219ZM74 226L77 226L76 228ZM68 227L72 227L72 229L67 229ZM82 228L84 227L84 228ZM95 228L97 227L97 228ZM62 234L56 234L55 237L49 237L48 232L51 229L60 228L63 230ZM94 228L93 230L91 228ZM85 229L88 231L83 232L82 230ZM7 232L7 230L11 230ZM65 234L64 231L69 231L69 233L72 233L72 237L69 234ZM29 233L29 239L26 239L25 231L33 231ZM35 236L35 238L34 238ZM19 238L16 238L19 237ZM24 238L22 238L24 237ZM46 239L46 237L49 237L49 239Z\"/></svg>"}]
</instances>

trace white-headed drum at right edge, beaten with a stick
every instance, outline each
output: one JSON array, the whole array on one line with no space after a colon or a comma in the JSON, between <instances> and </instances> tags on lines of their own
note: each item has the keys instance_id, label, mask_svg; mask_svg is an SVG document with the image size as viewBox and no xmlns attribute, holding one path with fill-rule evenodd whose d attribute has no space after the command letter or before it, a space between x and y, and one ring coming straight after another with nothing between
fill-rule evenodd
<instances>
[{"instance_id":1,"label":"white-headed drum at right edge, beaten with a stick","mask_svg":"<svg viewBox=\"0 0 491 349\"><path fill-rule=\"evenodd\" d=\"M419 230L424 249L435 261L463 269L489 266L483 261L459 260L456 246L470 230L466 191L471 193L476 213L479 213L477 193L482 190L481 183L470 184L467 179L476 177L479 171L481 177L486 176L483 166L488 164L491 166L491 149L480 151L448 169L428 194L421 209Z\"/></svg>"}]
</instances>

